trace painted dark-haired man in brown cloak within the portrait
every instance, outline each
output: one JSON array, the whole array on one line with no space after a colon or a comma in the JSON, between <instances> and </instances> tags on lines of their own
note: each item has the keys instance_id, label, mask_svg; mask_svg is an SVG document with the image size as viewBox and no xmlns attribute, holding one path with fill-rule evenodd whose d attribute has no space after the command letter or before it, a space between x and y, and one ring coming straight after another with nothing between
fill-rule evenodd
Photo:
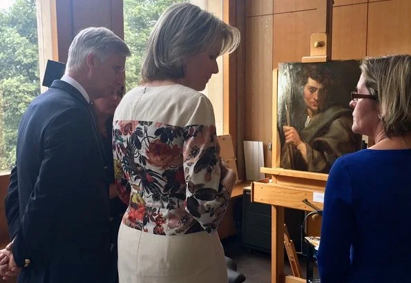
<instances>
[{"instance_id":1,"label":"painted dark-haired man in brown cloak within the portrait","mask_svg":"<svg viewBox=\"0 0 411 283\"><path fill-rule=\"evenodd\" d=\"M352 111L328 103L333 84L329 70L311 64L303 68L300 85L305 123L301 130L293 125L283 126L285 146L281 167L328 173L338 157L360 149L361 136L352 133Z\"/></svg>"}]
</instances>

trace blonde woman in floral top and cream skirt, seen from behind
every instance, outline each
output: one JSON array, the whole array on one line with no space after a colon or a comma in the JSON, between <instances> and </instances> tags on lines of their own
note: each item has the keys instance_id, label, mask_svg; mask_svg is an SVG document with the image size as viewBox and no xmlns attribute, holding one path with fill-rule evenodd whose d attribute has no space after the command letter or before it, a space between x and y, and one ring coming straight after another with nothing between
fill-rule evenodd
<instances>
[{"instance_id":1,"label":"blonde woman in floral top and cream skirt, seen from behind","mask_svg":"<svg viewBox=\"0 0 411 283\"><path fill-rule=\"evenodd\" d=\"M236 178L220 163L213 107L198 92L239 32L189 3L155 24L142 68L113 121L116 182L128 205L120 282L227 282L216 230Z\"/></svg>"}]
</instances>

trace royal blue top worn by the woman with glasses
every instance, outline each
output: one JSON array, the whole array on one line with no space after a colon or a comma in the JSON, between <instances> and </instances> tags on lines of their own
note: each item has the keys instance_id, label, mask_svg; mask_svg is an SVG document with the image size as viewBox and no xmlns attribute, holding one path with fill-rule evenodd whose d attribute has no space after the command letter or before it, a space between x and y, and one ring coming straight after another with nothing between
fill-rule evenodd
<instances>
[{"instance_id":1,"label":"royal blue top worn by the woman with glasses","mask_svg":"<svg viewBox=\"0 0 411 283\"><path fill-rule=\"evenodd\" d=\"M321 283L411 282L411 149L336 160L325 188Z\"/></svg>"}]
</instances>

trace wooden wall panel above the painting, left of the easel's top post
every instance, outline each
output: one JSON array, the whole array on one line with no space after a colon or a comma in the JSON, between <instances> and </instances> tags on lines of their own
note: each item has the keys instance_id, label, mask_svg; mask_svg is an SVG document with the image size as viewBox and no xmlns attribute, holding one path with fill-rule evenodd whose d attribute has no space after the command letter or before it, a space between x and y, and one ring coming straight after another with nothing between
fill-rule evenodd
<instances>
[{"instance_id":1,"label":"wooden wall panel above the painting, left of the easel's top post","mask_svg":"<svg viewBox=\"0 0 411 283\"><path fill-rule=\"evenodd\" d=\"M318 32L317 10L274 14L273 66L279 62L301 61L309 56L309 40Z\"/></svg>"}]
</instances>

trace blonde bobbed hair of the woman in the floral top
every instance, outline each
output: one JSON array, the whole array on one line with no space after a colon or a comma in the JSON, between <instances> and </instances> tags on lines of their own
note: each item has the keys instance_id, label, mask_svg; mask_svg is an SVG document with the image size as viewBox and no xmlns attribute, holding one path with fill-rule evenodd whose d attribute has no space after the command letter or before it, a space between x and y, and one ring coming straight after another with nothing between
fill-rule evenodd
<instances>
[{"instance_id":1,"label":"blonde bobbed hair of the woman in the floral top","mask_svg":"<svg viewBox=\"0 0 411 283\"><path fill-rule=\"evenodd\" d=\"M184 77L184 57L219 41L220 55L233 52L240 43L240 32L198 6L173 4L162 13L147 41L143 81Z\"/></svg>"}]
</instances>

